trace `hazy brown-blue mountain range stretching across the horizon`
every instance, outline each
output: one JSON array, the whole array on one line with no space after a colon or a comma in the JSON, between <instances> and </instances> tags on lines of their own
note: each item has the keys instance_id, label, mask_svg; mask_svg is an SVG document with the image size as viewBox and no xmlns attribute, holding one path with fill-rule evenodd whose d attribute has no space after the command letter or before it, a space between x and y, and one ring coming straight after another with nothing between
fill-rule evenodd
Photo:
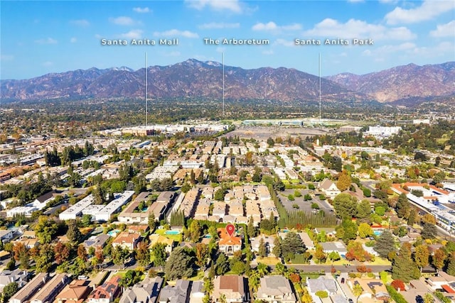
<instances>
[{"instance_id":1,"label":"hazy brown-blue mountain range stretching across the horizon","mask_svg":"<svg viewBox=\"0 0 455 303\"><path fill-rule=\"evenodd\" d=\"M223 66L189 59L147 68L147 95L153 98L220 99ZM292 68L245 70L225 66L225 98L236 100L317 101L321 81L323 101L428 101L455 96L455 62L393 67L366 75L343 73L319 79ZM145 69L113 67L51 73L33 79L0 80L4 101L144 98Z\"/></svg>"}]
</instances>

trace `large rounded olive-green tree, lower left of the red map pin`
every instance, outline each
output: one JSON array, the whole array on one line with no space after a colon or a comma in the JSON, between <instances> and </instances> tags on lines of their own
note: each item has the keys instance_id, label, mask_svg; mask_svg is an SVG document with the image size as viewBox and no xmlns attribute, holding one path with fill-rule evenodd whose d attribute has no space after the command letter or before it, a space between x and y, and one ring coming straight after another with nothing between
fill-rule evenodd
<instances>
[{"instance_id":1,"label":"large rounded olive-green tree, lower left of the red map pin","mask_svg":"<svg viewBox=\"0 0 455 303\"><path fill-rule=\"evenodd\" d=\"M193 260L184 248L172 250L169 260L166 263L165 273L167 280L176 280L182 277L193 275Z\"/></svg>"}]
</instances>

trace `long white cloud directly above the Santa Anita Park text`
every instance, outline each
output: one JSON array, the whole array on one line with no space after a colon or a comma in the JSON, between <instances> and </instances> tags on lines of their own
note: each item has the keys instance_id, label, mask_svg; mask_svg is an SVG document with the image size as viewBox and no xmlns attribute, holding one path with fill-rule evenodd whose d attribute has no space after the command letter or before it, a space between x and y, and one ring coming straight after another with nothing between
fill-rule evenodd
<instances>
[{"instance_id":1,"label":"long white cloud directly above the Santa Anita Park text","mask_svg":"<svg viewBox=\"0 0 455 303\"><path fill-rule=\"evenodd\" d=\"M317 23L314 28L304 33L309 36L323 38L371 38L373 40L393 39L393 40L412 40L417 36L408 28L387 28L382 25L370 24L365 21L350 19L346 23L326 18Z\"/></svg>"}]
</instances>

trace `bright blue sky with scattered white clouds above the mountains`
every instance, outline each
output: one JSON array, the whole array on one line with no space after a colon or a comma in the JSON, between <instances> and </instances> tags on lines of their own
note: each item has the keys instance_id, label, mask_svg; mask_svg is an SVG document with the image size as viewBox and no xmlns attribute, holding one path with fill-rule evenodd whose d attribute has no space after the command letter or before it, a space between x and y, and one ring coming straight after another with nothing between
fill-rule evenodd
<instances>
[{"instance_id":1,"label":"bright blue sky with scattered white clouds above the mountains","mask_svg":"<svg viewBox=\"0 0 455 303\"><path fill-rule=\"evenodd\" d=\"M245 69L291 67L363 75L455 60L455 1L1 1L0 79L188 58ZM132 45L132 39L156 45ZM178 38L178 45L159 39ZM268 45L207 45L204 38ZM353 39L373 45L353 45ZM102 39L128 45L102 45ZM296 39L321 45L296 45ZM346 44L326 45L326 39Z\"/></svg>"}]
</instances>

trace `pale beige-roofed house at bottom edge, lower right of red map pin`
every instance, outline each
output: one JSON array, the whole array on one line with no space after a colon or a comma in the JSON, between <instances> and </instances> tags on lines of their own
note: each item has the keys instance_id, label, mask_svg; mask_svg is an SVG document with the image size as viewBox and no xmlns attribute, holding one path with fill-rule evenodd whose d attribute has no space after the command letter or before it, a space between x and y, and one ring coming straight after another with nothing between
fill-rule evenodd
<instances>
[{"instance_id":1,"label":"pale beige-roofed house at bottom edge, lower right of red map pin","mask_svg":"<svg viewBox=\"0 0 455 303\"><path fill-rule=\"evenodd\" d=\"M270 303L296 303L297 297L291 283L282 275L262 277L257 289L257 299Z\"/></svg>"}]
</instances>

